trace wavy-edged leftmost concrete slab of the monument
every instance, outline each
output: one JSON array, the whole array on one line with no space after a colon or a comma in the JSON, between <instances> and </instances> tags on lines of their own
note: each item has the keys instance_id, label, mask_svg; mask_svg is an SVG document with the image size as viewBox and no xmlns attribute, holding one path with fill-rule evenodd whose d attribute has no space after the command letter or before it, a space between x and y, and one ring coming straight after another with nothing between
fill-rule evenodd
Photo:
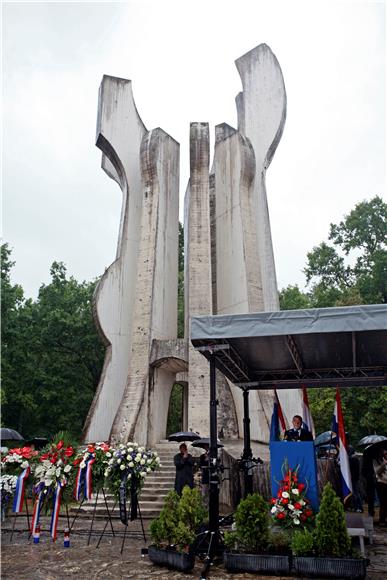
<instances>
[{"instance_id":1,"label":"wavy-edged leftmost concrete slab of the monument","mask_svg":"<svg viewBox=\"0 0 387 580\"><path fill-rule=\"evenodd\" d=\"M97 147L103 152L103 169L120 185L122 209L116 260L102 276L94 299L95 320L108 346L85 423L85 441L108 439L128 374L143 195L140 147L146 133L131 82L104 76Z\"/></svg>"}]
</instances>

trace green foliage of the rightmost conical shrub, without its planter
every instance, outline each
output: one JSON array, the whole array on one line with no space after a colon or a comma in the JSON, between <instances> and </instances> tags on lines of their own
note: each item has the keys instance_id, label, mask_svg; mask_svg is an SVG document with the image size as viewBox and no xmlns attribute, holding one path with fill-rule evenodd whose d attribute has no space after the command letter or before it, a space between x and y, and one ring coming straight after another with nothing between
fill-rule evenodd
<instances>
[{"instance_id":1,"label":"green foliage of the rightmost conical shrub, without its planter","mask_svg":"<svg viewBox=\"0 0 387 580\"><path fill-rule=\"evenodd\" d=\"M330 483L324 487L314 538L318 556L345 557L351 553L344 507Z\"/></svg>"}]
</instances>

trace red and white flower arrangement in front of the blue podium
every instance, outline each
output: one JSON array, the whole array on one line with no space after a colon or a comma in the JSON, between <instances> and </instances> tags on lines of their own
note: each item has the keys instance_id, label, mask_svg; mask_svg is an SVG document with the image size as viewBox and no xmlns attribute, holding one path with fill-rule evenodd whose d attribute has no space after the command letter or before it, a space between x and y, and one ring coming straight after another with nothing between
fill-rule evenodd
<instances>
[{"instance_id":1,"label":"red and white flower arrangement in front of the blue podium","mask_svg":"<svg viewBox=\"0 0 387 580\"><path fill-rule=\"evenodd\" d=\"M314 514L309 500L306 498L307 487L298 480L298 469L283 467L283 479L277 493L272 498L271 514L276 524L288 529L310 527L314 522Z\"/></svg>"}]
</instances>

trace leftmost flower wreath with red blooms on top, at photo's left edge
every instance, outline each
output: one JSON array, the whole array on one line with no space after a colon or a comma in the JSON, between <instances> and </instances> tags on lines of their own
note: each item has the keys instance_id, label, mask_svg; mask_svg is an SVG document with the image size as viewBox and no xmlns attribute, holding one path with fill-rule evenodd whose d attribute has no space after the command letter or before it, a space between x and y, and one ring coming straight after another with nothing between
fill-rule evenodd
<instances>
[{"instance_id":1,"label":"leftmost flower wreath with red blooms on top, at photo's left edge","mask_svg":"<svg viewBox=\"0 0 387 580\"><path fill-rule=\"evenodd\" d=\"M32 447L15 447L10 449L1 458L1 505L2 513L13 497L12 511L20 513L28 481L31 481L33 464L36 461L37 451Z\"/></svg>"}]
</instances>

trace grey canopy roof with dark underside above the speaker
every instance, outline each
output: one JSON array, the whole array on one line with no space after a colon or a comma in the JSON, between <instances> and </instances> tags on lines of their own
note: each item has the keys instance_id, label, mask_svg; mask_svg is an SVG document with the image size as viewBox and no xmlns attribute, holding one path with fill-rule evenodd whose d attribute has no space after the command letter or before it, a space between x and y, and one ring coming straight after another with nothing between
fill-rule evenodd
<instances>
[{"instance_id":1,"label":"grey canopy roof with dark underside above the speaker","mask_svg":"<svg viewBox=\"0 0 387 580\"><path fill-rule=\"evenodd\" d=\"M387 305L196 316L191 341L241 388L387 385Z\"/></svg>"}]
</instances>

